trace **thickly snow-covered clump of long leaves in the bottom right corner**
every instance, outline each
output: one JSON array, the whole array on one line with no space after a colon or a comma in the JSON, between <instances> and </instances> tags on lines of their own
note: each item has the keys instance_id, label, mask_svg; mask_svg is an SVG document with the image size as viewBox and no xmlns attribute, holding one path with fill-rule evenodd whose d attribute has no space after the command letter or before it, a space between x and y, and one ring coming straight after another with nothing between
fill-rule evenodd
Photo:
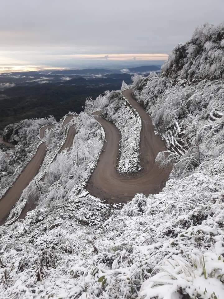
<instances>
[{"instance_id":1,"label":"thickly snow-covered clump of long leaves in the bottom right corner","mask_svg":"<svg viewBox=\"0 0 224 299\"><path fill-rule=\"evenodd\" d=\"M174 294L188 294L190 298L210 299L224 294L224 261L217 253L191 254L185 259L174 254L155 269L159 273L142 284L142 298L172 299Z\"/></svg>"}]
</instances>

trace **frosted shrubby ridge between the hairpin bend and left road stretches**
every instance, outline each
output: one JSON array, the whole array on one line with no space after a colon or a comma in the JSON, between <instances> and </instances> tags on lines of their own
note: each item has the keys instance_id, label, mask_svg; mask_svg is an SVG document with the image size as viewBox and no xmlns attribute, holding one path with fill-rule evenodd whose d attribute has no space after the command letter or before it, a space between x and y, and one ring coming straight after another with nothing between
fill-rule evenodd
<instances>
[{"instance_id":1,"label":"frosted shrubby ridge between the hairpin bend and left road stretches","mask_svg":"<svg viewBox=\"0 0 224 299\"><path fill-rule=\"evenodd\" d=\"M75 135L73 147L58 154L65 141L62 136L66 137L68 127L57 129L52 133L54 138L39 173L24 189L20 200L8 217L8 224L15 221L26 202L28 204L29 201L34 202L34 198L36 206L39 204L46 207L51 203L56 209L58 204L69 201L70 197L74 200L77 194L86 192L83 187L96 166L105 135L100 124L86 113L81 113L74 121L77 121L78 133Z\"/></svg>"}]
</instances>

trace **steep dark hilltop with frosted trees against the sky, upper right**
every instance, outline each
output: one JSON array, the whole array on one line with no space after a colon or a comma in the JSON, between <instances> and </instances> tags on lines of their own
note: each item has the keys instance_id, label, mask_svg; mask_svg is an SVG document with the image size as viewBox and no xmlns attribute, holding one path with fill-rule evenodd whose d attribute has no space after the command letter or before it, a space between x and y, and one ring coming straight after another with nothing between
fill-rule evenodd
<instances>
[{"instance_id":1,"label":"steep dark hilltop with frosted trees against the sky, upper right","mask_svg":"<svg viewBox=\"0 0 224 299\"><path fill-rule=\"evenodd\" d=\"M224 23L198 27L189 42L174 48L161 75L173 79L223 79Z\"/></svg>"}]
</instances>

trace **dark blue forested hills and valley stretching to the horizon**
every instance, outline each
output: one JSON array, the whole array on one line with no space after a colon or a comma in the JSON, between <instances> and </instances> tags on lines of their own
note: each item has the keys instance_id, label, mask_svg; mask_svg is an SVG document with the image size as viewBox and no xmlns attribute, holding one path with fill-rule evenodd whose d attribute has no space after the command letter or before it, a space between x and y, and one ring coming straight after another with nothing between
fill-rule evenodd
<instances>
[{"instance_id":1,"label":"dark blue forested hills and valley stretching to the horizon","mask_svg":"<svg viewBox=\"0 0 224 299\"><path fill-rule=\"evenodd\" d=\"M82 111L86 97L118 90L133 74L160 70L147 65L129 69L76 69L0 74L0 130L25 118L53 114L59 120L70 110Z\"/></svg>"}]
</instances>

